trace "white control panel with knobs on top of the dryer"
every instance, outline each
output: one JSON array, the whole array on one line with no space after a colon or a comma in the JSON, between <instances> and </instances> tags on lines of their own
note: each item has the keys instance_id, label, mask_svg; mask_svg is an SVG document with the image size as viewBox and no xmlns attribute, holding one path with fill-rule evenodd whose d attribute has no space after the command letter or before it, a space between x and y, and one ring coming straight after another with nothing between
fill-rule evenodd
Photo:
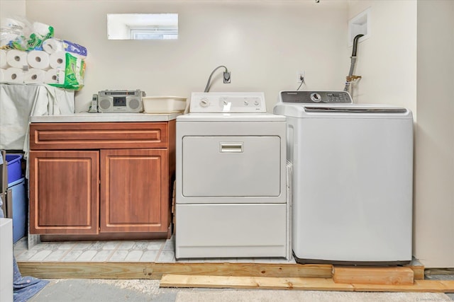
<instances>
[{"instance_id":1,"label":"white control panel with knobs on top of the dryer","mask_svg":"<svg viewBox=\"0 0 454 302\"><path fill-rule=\"evenodd\" d=\"M264 93L192 93L189 112L265 113Z\"/></svg>"}]
</instances>

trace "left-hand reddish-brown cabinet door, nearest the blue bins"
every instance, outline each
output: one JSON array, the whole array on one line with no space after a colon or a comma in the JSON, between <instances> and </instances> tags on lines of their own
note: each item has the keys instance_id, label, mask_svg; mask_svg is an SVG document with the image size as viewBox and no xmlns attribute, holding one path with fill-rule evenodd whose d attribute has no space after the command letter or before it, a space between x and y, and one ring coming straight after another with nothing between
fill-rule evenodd
<instances>
[{"instance_id":1,"label":"left-hand reddish-brown cabinet door, nearest the blue bins","mask_svg":"<svg viewBox=\"0 0 454 302\"><path fill-rule=\"evenodd\" d=\"M99 151L30 151L30 232L97 234Z\"/></svg>"}]
</instances>

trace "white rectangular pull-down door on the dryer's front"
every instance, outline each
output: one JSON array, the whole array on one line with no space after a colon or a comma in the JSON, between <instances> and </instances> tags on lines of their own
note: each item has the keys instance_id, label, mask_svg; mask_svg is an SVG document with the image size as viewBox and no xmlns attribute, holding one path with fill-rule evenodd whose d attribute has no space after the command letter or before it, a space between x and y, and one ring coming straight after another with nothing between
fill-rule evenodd
<instances>
[{"instance_id":1,"label":"white rectangular pull-down door on the dryer's front","mask_svg":"<svg viewBox=\"0 0 454 302\"><path fill-rule=\"evenodd\" d=\"M182 141L184 197L281 194L280 137L184 137Z\"/></svg>"}]
</instances>

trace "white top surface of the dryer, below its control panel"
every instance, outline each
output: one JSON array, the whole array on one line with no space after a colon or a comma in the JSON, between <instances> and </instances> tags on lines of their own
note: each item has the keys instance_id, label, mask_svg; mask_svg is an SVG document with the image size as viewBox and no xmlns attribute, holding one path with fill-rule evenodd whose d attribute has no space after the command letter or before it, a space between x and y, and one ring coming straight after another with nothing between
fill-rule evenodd
<instances>
[{"instance_id":1,"label":"white top surface of the dryer, below its control panel","mask_svg":"<svg viewBox=\"0 0 454 302\"><path fill-rule=\"evenodd\" d=\"M284 122L283 115L272 113L189 113L177 122Z\"/></svg>"}]
</instances>

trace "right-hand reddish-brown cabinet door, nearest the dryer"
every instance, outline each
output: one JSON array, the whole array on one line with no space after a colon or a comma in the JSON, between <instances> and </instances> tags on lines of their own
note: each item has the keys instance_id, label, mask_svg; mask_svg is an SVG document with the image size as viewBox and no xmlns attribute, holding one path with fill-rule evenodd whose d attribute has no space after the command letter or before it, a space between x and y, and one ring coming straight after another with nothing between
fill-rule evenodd
<instances>
[{"instance_id":1,"label":"right-hand reddish-brown cabinet door, nearest the dryer","mask_svg":"<svg viewBox=\"0 0 454 302\"><path fill-rule=\"evenodd\" d=\"M167 149L101 150L101 232L164 232Z\"/></svg>"}]
</instances>

